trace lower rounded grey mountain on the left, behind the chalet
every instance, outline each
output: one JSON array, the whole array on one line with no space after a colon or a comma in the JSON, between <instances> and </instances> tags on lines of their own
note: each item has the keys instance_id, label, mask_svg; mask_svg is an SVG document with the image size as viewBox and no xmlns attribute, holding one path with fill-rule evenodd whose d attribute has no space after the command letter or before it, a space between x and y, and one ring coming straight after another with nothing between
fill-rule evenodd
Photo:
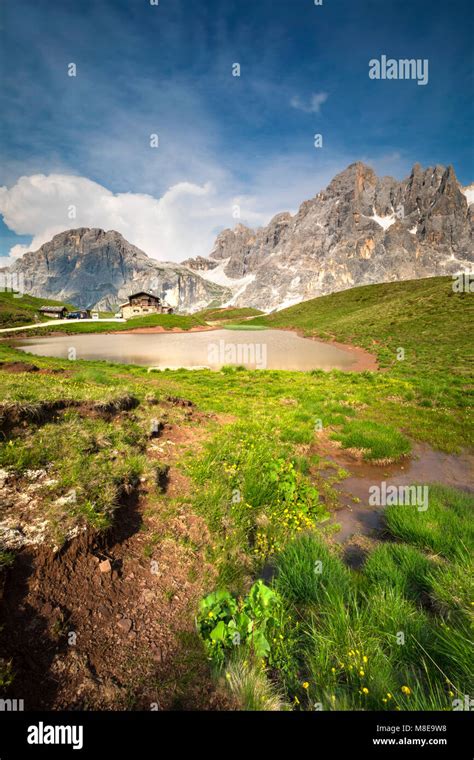
<instances>
[{"instance_id":1,"label":"lower rounded grey mountain on the left, behind the chalet","mask_svg":"<svg viewBox=\"0 0 474 760\"><path fill-rule=\"evenodd\" d=\"M113 230L62 232L38 251L26 253L11 271L23 275L30 295L83 308L113 309L140 290L160 296L179 311L194 311L230 296L187 267L150 259Z\"/></svg>"}]
</instances>

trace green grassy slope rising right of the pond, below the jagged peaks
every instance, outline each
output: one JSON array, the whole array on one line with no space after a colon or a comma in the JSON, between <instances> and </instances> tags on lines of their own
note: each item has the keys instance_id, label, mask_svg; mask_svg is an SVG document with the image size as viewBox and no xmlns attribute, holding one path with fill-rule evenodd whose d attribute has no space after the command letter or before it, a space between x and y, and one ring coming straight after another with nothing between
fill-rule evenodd
<instances>
[{"instance_id":1,"label":"green grassy slope rising right of the pond, below the jagged peaks","mask_svg":"<svg viewBox=\"0 0 474 760\"><path fill-rule=\"evenodd\" d=\"M324 340L354 343L375 352L384 367L464 374L472 361L466 328L473 319L472 294L453 293L449 277L432 277L344 290L250 324L293 327ZM402 361L398 348L405 349Z\"/></svg>"}]
</instances>

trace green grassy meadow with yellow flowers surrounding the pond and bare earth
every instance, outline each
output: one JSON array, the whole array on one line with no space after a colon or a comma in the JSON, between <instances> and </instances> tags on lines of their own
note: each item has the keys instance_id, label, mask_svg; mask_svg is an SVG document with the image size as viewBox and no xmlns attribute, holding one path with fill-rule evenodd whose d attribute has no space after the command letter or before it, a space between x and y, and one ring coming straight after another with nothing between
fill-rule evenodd
<instances>
[{"instance_id":1,"label":"green grassy meadow with yellow flowers surrounding the pond and bare earth","mask_svg":"<svg viewBox=\"0 0 474 760\"><path fill-rule=\"evenodd\" d=\"M383 541L371 542L360 568L349 567L329 522L335 483L347 473L321 477L318 436L382 463L381 471L406 460L415 442L472 451L472 304L449 278L430 278L225 317L230 329L258 330L259 341L266 328L289 328L361 346L378 372L147 372L29 357L4 340L1 362L32 361L47 372L0 370L0 467L19 483L48 469L53 485L40 497L52 542L75 525L106 530L123 493L154 477L153 419L169 397L189 400L199 421L166 408L168 424L199 436L173 462L190 487L156 495L147 508L171 517L186 507L207 525L215 572L192 615L219 688L242 709L452 709L473 693L474 500L439 485L426 512L388 507ZM158 324L134 323L151 319ZM160 320L188 329L220 316ZM73 507L61 503L71 489Z\"/></svg>"}]
</instances>

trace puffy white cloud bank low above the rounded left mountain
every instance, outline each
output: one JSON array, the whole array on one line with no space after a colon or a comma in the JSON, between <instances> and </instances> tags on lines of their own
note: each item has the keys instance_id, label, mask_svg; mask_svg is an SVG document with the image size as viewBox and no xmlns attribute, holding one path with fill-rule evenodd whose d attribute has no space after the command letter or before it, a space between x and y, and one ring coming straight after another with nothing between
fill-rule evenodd
<instances>
[{"instance_id":1,"label":"puffy white cloud bank low above the rounded left mountain","mask_svg":"<svg viewBox=\"0 0 474 760\"><path fill-rule=\"evenodd\" d=\"M31 235L30 245L14 245L10 256L37 250L53 235L77 227L101 227L120 232L153 258L182 261L206 256L216 229L232 227L236 205L242 221L259 225L267 215L256 211L254 199L218 193L211 182L179 182L161 198L142 193L112 193L85 177L35 174L11 187L0 187L0 213L7 227Z\"/></svg>"}]
</instances>

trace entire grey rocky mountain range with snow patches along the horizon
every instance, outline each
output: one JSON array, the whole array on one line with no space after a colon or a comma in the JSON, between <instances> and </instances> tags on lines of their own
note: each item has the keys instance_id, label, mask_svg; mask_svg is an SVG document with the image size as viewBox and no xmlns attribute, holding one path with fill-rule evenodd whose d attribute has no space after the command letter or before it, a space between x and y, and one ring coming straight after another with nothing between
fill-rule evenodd
<instances>
[{"instance_id":1,"label":"entire grey rocky mountain range with snow patches along the horizon","mask_svg":"<svg viewBox=\"0 0 474 760\"><path fill-rule=\"evenodd\" d=\"M357 285L471 271L474 185L452 166L415 164L398 181L351 164L296 214L266 227L221 232L209 257L160 262L115 231L80 228L55 235L19 259L33 296L115 308L147 290L179 311L207 305L265 311Z\"/></svg>"}]
</instances>

